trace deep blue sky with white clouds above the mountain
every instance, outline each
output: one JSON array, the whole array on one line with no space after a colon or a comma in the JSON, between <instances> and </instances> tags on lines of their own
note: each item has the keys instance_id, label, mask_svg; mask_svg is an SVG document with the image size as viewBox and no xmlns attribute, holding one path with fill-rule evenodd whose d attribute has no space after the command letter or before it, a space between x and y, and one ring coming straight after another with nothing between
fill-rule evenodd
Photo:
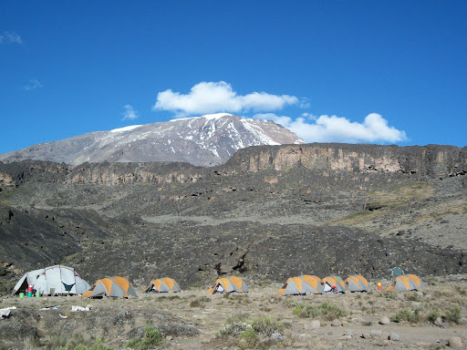
<instances>
[{"instance_id":1,"label":"deep blue sky with white clouds above the mountain","mask_svg":"<svg viewBox=\"0 0 467 350\"><path fill-rule=\"evenodd\" d=\"M465 1L0 3L0 153L171 118L466 146Z\"/></svg>"}]
</instances>

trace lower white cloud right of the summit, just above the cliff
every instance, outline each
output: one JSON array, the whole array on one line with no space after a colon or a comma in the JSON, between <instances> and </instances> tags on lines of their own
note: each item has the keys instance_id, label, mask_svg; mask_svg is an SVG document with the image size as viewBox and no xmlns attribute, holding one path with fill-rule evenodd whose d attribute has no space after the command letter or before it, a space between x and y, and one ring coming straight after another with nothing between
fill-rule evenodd
<instances>
[{"instance_id":1,"label":"lower white cloud right of the summit, just above the cliff","mask_svg":"<svg viewBox=\"0 0 467 350\"><path fill-rule=\"evenodd\" d=\"M290 129L306 142L398 142L407 139L405 131L389 127L388 120L377 113L370 113L363 123L337 116L319 118L304 113L292 119L274 113L256 114L254 118L269 119Z\"/></svg>"}]
</instances>

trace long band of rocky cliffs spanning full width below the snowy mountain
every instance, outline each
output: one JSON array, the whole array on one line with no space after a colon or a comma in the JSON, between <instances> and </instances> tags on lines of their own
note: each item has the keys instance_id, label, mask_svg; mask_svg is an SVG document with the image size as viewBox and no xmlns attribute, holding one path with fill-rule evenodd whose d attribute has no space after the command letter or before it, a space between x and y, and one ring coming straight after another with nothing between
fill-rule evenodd
<instances>
[{"instance_id":1,"label":"long band of rocky cliffs spanning full width below the snowy mountain","mask_svg":"<svg viewBox=\"0 0 467 350\"><path fill-rule=\"evenodd\" d=\"M467 173L467 149L436 145L397 147L306 144L241 149L226 164L213 168L176 162L103 162L67 166L31 161L26 164L25 167L17 163L0 163L0 187L18 185L31 177L81 184L186 183L222 174L287 170L294 167L320 170L325 174L388 172L447 178Z\"/></svg>"}]
</instances>

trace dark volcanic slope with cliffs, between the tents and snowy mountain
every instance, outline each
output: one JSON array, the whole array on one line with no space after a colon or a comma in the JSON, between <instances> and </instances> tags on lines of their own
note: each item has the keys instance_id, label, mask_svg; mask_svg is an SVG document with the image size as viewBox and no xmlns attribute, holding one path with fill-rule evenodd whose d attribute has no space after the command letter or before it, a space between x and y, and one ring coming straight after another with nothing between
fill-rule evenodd
<instances>
[{"instance_id":1,"label":"dark volcanic slope with cliffs, between the tents and snowy mountain","mask_svg":"<svg viewBox=\"0 0 467 350\"><path fill-rule=\"evenodd\" d=\"M58 262L91 283L170 275L182 288L232 273L466 273L466 174L467 149L450 146L260 146L211 168L0 163L2 288Z\"/></svg>"}]
</instances>

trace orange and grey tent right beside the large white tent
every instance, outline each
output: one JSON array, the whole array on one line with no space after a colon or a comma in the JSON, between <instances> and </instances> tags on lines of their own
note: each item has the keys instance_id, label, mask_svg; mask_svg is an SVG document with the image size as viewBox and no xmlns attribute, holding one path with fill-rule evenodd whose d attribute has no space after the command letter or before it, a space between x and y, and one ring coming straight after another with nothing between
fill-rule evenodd
<instances>
[{"instance_id":1,"label":"orange and grey tent right beside the large white tent","mask_svg":"<svg viewBox=\"0 0 467 350\"><path fill-rule=\"evenodd\" d=\"M138 298L130 281L119 276L102 278L96 281L92 288L81 296L88 298L99 298L102 296L128 298L129 296L135 296Z\"/></svg>"}]
</instances>

